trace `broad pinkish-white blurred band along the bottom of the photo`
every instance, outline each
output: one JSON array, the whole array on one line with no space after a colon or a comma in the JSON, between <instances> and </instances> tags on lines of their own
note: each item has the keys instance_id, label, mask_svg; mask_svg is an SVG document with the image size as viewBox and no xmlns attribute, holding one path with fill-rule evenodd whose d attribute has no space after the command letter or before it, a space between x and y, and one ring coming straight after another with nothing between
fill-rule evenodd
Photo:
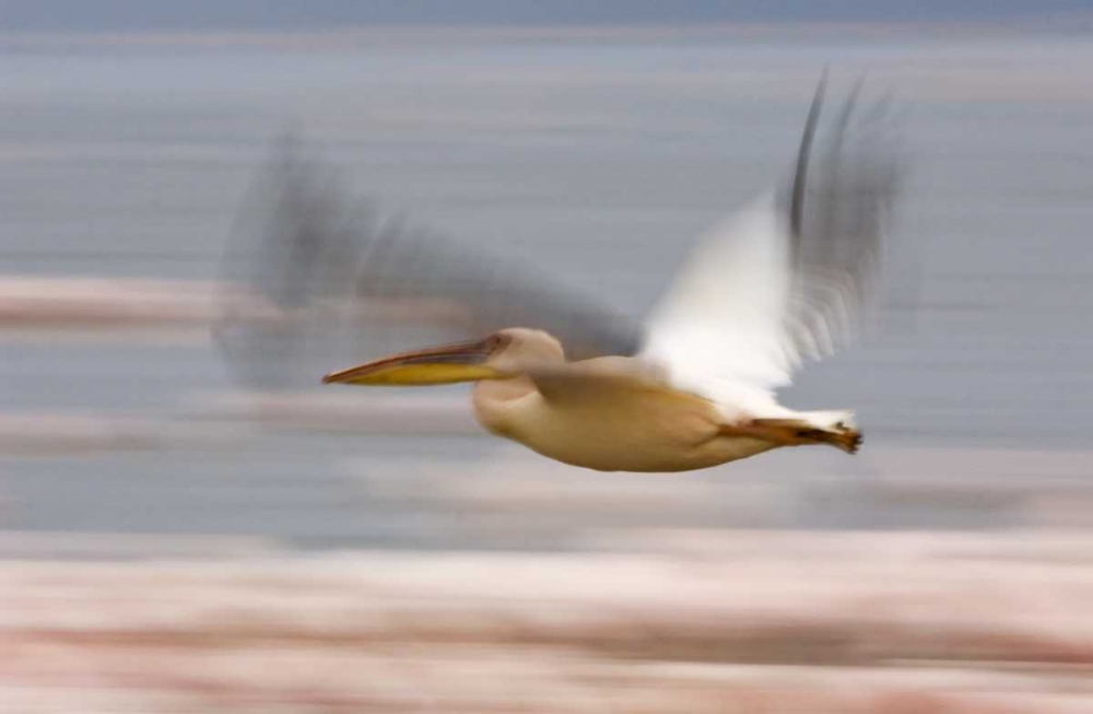
<instances>
[{"instance_id":1,"label":"broad pinkish-white blurred band along the bottom of the photo","mask_svg":"<svg viewBox=\"0 0 1093 714\"><path fill-rule=\"evenodd\" d=\"M1093 704L1088 536L692 540L670 559L12 564L0 711L71 711L77 698L144 714Z\"/></svg>"}]
</instances>

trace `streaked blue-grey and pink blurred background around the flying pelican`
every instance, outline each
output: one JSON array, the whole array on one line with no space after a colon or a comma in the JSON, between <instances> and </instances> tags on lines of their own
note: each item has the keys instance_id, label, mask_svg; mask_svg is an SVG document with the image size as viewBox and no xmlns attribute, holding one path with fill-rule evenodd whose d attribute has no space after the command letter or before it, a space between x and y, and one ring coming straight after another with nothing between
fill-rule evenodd
<instances>
[{"instance_id":1,"label":"streaked blue-grey and pink blurred background around the flying pelican","mask_svg":"<svg viewBox=\"0 0 1093 714\"><path fill-rule=\"evenodd\" d=\"M1093 711L1091 30L0 0L0 712ZM584 471L466 389L243 390L210 338L286 130L640 314L783 179L825 66L908 156L883 329L785 394L857 409L855 458Z\"/></svg>"}]
</instances>

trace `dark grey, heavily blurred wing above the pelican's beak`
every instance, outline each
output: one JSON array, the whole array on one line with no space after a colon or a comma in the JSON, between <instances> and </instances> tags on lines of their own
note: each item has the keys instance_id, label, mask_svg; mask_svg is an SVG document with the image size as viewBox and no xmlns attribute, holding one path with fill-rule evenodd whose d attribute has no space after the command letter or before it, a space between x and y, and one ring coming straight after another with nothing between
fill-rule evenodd
<instances>
[{"instance_id":1,"label":"dark grey, heavily blurred wing above the pelican's beak","mask_svg":"<svg viewBox=\"0 0 1093 714\"><path fill-rule=\"evenodd\" d=\"M634 320L532 266L354 201L344 183L289 144L247 201L215 326L244 382L313 385L344 364L506 327L546 330L571 359L636 351Z\"/></svg>"}]
</instances>

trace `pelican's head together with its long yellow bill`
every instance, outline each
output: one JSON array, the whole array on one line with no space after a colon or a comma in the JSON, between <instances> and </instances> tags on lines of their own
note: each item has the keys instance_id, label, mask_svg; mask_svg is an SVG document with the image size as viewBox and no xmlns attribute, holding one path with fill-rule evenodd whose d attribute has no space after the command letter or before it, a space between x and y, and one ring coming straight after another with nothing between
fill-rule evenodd
<instances>
[{"instance_id":1,"label":"pelican's head together with its long yellow bill","mask_svg":"<svg viewBox=\"0 0 1093 714\"><path fill-rule=\"evenodd\" d=\"M514 327L482 340L392 354L322 377L324 384L424 386L508 379L537 364L565 361L562 344L541 330Z\"/></svg>"}]
</instances>

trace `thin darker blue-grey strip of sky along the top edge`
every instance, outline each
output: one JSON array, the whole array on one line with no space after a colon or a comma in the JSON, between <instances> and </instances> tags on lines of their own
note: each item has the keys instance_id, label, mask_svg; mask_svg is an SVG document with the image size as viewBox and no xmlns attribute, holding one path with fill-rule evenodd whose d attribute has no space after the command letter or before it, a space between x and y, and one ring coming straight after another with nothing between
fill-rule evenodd
<instances>
[{"instance_id":1,"label":"thin darker blue-grey strip of sky along the top edge","mask_svg":"<svg viewBox=\"0 0 1093 714\"><path fill-rule=\"evenodd\" d=\"M376 24L1037 22L1093 0L0 0L0 32L294 31Z\"/></svg>"}]
</instances>

